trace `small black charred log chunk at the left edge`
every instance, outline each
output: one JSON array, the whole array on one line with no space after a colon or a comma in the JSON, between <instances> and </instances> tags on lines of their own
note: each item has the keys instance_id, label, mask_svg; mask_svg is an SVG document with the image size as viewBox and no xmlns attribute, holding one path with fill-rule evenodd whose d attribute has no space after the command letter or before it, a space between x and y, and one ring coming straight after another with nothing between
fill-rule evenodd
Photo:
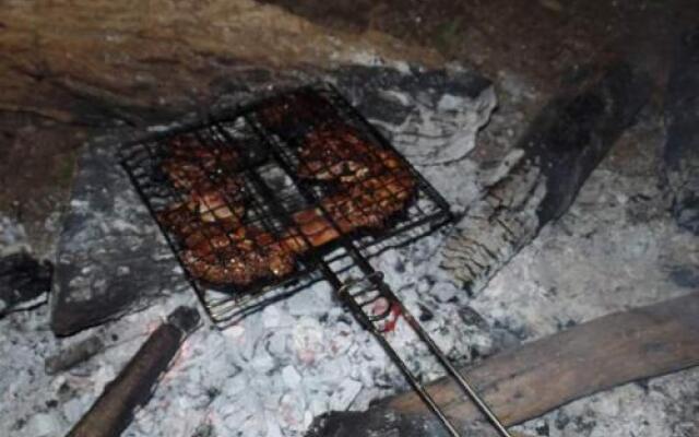
<instances>
[{"instance_id":1,"label":"small black charred log chunk at the left edge","mask_svg":"<svg viewBox=\"0 0 699 437\"><path fill-rule=\"evenodd\" d=\"M0 318L17 309L46 303L54 265L19 252L0 259Z\"/></svg>"}]
</instances>

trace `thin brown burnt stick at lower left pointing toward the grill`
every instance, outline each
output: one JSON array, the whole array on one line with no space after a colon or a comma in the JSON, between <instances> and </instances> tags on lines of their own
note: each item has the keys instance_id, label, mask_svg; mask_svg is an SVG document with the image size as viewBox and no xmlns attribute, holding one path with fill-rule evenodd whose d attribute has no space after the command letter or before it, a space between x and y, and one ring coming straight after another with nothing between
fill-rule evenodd
<instances>
[{"instance_id":1,"label":"thin brown burnt stick at lower left pointing toward the grill","mask_svg":"<svg viewBox=\"0 0 699 437\"><path fill-rule=\"evenodd\" d=\"M134 409L151 398L158 378L168 368L183 339L199 326L196 309L179 307L161 324L109 382L68 437L112 437L131 423Z\"/></svg>"}]
</instances>

